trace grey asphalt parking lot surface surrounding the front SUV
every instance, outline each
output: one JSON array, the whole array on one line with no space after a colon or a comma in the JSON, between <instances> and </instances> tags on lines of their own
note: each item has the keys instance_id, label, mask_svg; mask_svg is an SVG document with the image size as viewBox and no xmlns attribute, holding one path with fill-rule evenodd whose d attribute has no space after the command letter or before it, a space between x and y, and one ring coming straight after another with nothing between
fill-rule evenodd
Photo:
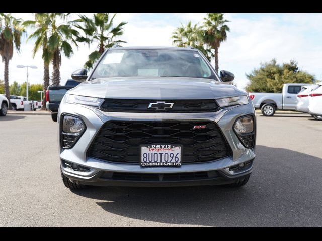
<instances>
[{"instance_id":1,"label":"grey asphalt parking lot surface surrounding the front SUV","mask_svg":"<svg viewBox=\"0 0 322 241\"><path fill-rule=\"evenodd\" d=\"M322 226L322 122L258 115L248 184L91 187L62 184L49 115L0 117L0 226Z\"/></svg>"}]
</instances>

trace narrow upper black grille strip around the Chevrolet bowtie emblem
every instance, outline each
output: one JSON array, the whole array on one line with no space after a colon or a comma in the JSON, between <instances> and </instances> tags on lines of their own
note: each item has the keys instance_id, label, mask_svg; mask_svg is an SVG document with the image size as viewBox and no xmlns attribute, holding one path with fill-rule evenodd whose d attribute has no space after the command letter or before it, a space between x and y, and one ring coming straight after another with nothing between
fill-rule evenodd
<instances>
[{"instance_id":1,"label":"narrow upper black grille strip around the Chevrolet bowtie emblem","mask_svg":"<svg viewBox=\"0 0 322 241\"><path fill-rule=\"evenodd\" d=\"M173 103L172 108L156 109L148 108L152 103L165 102ZM170 105L166 105L170 106ZM154 107L154 108L153 108ZM174 112L174 113L200 113L200 112L215 112L219 106L212 99L194 99L194 100L146 100L146 99L106 99L101 105L103 111L108 112Z\"/></svg>"}]
</instances>

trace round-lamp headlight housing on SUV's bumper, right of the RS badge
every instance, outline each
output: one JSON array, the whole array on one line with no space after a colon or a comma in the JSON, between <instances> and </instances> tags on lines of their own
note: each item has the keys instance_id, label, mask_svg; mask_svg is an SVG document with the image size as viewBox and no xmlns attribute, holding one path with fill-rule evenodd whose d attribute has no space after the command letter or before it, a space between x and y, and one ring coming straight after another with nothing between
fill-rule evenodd
<instances>
[{"instance_id":1,"label":"round-lamp headlight housing on SUV's bumper, right of the RS badge","mask_svg":"<svg viewBox=\"0 0 322 241\"><path fill-rule=\"evenodd\" d=\"M255 145L255 117L246 115L236 120L233 130L246 148L253 148Z\"/></svg>"}]
</instances>

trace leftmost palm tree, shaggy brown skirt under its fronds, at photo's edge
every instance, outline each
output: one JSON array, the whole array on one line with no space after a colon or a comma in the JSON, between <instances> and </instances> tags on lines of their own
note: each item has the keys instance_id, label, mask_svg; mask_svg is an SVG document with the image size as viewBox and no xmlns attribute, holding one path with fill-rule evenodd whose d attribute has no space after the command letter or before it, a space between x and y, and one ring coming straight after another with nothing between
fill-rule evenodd
<instances>
[{"instance_id":1,"label":"leftmost palm tree, shaggy brown skirt under its fronds, at photo's edge","mask_svg":"<svg viewBox=\"0 0 322 241\"><path fill-rule=\"evenodd\" d=\"M0 55L5 62L5 92L11 109L9 92L9 61L14 54L14 46L17 52L20 51L21 36L24 28L21 25L22 19L16 19L11 14L0 13Z\"/></svg>"}]
</instances>

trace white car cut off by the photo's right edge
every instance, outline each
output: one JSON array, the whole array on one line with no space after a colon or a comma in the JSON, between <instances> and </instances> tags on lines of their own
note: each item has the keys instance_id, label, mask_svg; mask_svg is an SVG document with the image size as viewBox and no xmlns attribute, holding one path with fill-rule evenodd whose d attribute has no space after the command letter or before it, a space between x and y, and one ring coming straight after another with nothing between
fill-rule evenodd
<instances>
[{"instance_id":1,"label":"white car cut off by the photo's right edge","mask_svg":"<svg viewBox=\"0 0 322 241\"><path fill-rule=\"evenodd\" d=\"M319 121L322 121L322 82L317 83L309 94L308 112Z\"/></svg>"}]
</instances>

